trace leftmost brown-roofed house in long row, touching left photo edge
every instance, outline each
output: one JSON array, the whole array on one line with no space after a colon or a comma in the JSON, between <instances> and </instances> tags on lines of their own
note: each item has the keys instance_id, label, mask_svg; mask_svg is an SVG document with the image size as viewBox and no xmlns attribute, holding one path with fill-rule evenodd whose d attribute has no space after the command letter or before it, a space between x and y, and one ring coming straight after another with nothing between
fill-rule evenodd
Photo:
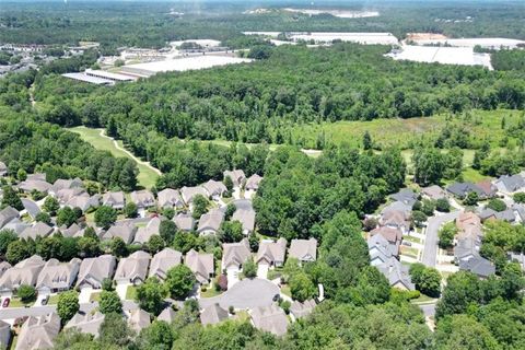
<instances>
[{"instance_id":1,"label":"leftmost brown-roofed house in long row, touching left photo edge","mask_svg":"<svg viewBox=\"0 0 525 350\"><path fill-rule=\"evenodd\" d=\"M45 264L42 257L33 255L5 270L0 277L0 292L16 290L22 284L35 287L38 273Z\"/></svg>"}]
</instances>

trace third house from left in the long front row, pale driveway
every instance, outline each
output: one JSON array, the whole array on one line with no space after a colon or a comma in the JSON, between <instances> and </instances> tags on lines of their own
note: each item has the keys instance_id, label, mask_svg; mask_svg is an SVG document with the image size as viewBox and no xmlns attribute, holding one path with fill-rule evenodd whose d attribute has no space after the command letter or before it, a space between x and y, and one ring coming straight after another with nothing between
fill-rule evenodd
<instances>
[{"instance_id":1,"label":"third house from left in the long front row, pale driveway","mask_svg":"<svg viewBox=\"0 0 525 350\"><path fill-rule=\"evenodd\" d=\"M117 259L108 254L82 260L77 287L101 289L104 279L113 277L116 266Z\"/></svg>"}]
</instances>

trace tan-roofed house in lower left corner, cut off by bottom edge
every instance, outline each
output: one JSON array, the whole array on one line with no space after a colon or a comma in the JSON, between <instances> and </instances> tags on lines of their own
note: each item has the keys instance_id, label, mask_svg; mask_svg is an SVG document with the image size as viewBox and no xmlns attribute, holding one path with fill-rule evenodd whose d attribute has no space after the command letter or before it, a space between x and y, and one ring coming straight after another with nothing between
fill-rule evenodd
<instances>
[{"instance_id":1,"label":"tan-roofed house in lower left corner, cut off by bottom edge","mask_svg":"<svg viewBox=\"0 0 525 350\"><path fill-rule=\"evenodd\" d=\"M20 328L15 350L52 349L59 331L60 317L57 314L30 316Z\"/></svg>"}]
</instances>

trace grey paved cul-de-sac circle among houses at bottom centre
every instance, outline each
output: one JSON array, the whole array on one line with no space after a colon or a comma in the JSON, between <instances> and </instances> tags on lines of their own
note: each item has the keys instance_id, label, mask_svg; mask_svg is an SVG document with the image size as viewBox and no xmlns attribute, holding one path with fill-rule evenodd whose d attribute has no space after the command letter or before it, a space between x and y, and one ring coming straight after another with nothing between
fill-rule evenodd
<instances>
[{"instance_id":1,"label":"grey paved cul-de-sac circle among houses at bottom centre","mask_svg":"<svg viewBox=\"0 0 525 350\"><path fill-rule=\"evenodd\" d=\"M273 296L280 294L279 287L260 278L244 279L225 291L222 295L200 299L201 307L219 305L225 310L230 306L235 308L254 308L268 306L273 303Z\"/></svg>"}]
</instances>

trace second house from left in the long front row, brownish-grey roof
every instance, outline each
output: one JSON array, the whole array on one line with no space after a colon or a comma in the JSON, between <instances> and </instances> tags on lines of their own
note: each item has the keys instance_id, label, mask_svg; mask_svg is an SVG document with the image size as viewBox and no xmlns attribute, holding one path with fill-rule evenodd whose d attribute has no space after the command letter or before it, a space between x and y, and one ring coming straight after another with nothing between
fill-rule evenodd
<instances>
[{"instance_id":1,"label":"second house from left in the long front row, brownish-grey roof","mask_svg":"<svg viewBox=\"0 0 525 350\"><path fill-rule=\"evenodd\" d=\"M57 259L48 260L38 275L36 289L39 293L57 293L71 289L81 262L78 258L63 264Z\"/></svg>"}]
</instances>

